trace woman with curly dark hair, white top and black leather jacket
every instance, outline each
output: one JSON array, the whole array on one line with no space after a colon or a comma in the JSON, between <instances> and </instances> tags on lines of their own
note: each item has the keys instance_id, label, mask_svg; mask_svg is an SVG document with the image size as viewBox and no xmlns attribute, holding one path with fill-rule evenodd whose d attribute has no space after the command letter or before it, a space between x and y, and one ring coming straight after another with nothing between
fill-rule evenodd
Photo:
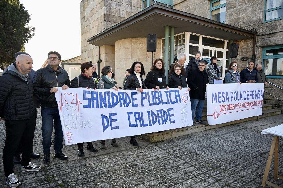
<instances>
[{"instance_id":1,"label":"woman with curly dark hair, white top and black leather jacket","mask_svg":"<svg viewBox=\"0 0 283 188\"><path fill-rule=\"evenodd\" d=\"M127 77L123 89L136 90L142 93L143 89L146 89L145 83L142 78L142 76L145 75L143 64L138 61L134 62L129 73L130 75ZM135 136L131 136L130 143L134 146L139 145L136 141Z\"/></svg>"}]
</instances>

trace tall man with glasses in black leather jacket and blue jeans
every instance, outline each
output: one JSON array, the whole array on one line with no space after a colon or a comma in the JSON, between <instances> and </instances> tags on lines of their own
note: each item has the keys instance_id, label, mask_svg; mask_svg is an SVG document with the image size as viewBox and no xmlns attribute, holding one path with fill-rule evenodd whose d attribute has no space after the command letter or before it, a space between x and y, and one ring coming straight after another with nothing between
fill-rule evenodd
<instances>
[{"instance_id":1,"label":"tall man with glasses in black leather jacket and blue jeans","mask_svg":"<svg viewBox=\"0 0 283 188\"><path fill-rule=\"evenodd\" d=\"M68 89L70 80L67 71L59 66L60 62L61 55L56 51L50 51L48 53L48 65L39 69L33 79L33 92L40 95L42 145L44 153L43 161L46 164L51 162L50 147L52 145L51 135L53 131L53 121L55 129L54 157L61 160L68 159L62 152L63 130L55 93L58 90L56 87Z\"/></svg>"}]
</instances>

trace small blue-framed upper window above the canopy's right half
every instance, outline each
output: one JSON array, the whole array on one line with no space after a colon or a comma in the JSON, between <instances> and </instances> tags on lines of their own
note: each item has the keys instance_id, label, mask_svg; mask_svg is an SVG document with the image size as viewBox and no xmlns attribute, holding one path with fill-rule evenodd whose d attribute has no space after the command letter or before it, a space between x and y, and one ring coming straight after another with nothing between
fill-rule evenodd
<instances>
[{"instance_id":1,"label":"small blue-framed upper window above the canopy's right half","mask_svg":"<svg viewBox=\"0 0 283 188\"><path fill-rule=\"evenodd\" d=\"M210 19L225 23L226 0L213 0L210 3Z\"/></svg>"}]
</instances>

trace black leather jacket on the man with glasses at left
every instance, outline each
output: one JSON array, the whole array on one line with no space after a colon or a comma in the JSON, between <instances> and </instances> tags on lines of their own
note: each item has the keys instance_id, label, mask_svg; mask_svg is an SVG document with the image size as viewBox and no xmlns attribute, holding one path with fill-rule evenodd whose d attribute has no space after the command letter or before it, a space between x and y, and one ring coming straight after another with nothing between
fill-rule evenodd
<instances>
[{"instance_id":1,"label":"black leather jacket on the man with glasses at left","mask_svg":"<svg viewBox=\"0 0 283 188\"><path fill-rule=\"evenodd\" d=\"M33 92L40 96L41 107L58 107L55 99L55 93L50 93L53 87L62 87L67 85L70 87L70 79L65 69L58 66L58 70L54 71L49 65L37 70L33 79Z\"/></svg>"}]
</instances>

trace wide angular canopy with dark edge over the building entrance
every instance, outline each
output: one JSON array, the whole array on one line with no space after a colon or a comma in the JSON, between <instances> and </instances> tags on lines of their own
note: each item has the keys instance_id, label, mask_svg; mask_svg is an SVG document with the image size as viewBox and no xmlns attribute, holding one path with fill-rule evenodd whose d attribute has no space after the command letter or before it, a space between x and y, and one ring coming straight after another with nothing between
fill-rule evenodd
<instances>
[{"instance_id":1,"label":"wide angular canopy with dark edge over the building entrance","mask_svg":"<svg viewBox=\"0 0 283 188\"><path fill-rule=\"evenodd\" d=\"M225 40L253 38L256 34L256 32L154 4L87 41L92 45L102 46L115 45L115 41L125 38L147 37L150 33L155 33L157 38L164 38L166 25L175 27L175 34L192 32Z\"/></svg>"}]
</instances>

